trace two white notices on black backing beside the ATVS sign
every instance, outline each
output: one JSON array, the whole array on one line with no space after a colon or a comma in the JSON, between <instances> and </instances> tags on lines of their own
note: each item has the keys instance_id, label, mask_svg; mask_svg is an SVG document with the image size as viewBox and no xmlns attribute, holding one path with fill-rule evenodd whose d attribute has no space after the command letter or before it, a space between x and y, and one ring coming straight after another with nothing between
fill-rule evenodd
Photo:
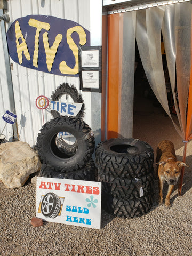
<instances>
[{"instance_id":1,"label":"two white notices on black backing beside the ATVS sign","mask_svg":"<svg viewBox=\"0 0 192 256\"><path fill-rule=\"evenodd\" d=\"M82 47L79 54L80 89L101 93L101 46Z\"/></svg>"}]
</instances>

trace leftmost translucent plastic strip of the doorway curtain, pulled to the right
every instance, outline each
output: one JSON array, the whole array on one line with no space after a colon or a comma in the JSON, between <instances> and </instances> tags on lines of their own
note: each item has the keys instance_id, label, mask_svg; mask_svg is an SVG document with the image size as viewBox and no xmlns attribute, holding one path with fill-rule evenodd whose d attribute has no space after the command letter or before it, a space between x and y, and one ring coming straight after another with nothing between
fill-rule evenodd
<instances>
[{"instance_id":1,"label":"leftmost translucent plastic strip of the doorway curtain, pulled to the right","mask_svg":"<svg viewBox=\"0 0 192 256\"><path fill-rule=\"evenodd\" d=\"M162 6L138 11L136 40L148 82L167 115L172 119L167 101L161 53L161 31L165 8L166 6ZM173 119L172 122L182 137L182 133Z\"/></svg>"}]
</instances>

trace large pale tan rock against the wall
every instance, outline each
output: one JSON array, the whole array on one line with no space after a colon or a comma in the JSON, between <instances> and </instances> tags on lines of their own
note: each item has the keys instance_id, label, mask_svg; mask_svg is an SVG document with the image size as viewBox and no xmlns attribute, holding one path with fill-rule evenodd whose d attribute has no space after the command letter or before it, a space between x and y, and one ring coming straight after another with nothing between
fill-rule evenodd
<instances>
[{"instance_id":1,"label":"large pale tan rock against the wall","mask_svg":"<svg viewBox=\"0 0 192 256\"><path fill-rule=\"evenodd\" d=\"M22 187L41 168L39 157L22 141L0 144L0 181L7 188Z\"/></svg>"}]
</instances>

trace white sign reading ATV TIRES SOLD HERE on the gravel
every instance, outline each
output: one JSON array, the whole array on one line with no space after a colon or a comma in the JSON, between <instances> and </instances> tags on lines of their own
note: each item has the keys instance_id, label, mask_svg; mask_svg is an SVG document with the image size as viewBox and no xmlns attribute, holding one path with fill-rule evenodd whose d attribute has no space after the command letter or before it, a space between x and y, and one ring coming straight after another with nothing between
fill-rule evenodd
<instances>
[{"instance_id":1,"label":"white sign reading ATV TIRES SOLD HERE on the gravel","mask_svg":"<svg viewBox=\"0 0 192 256\"><path fill-rule=\"evenodd\" d=\"M37 177L36 217L100 229L101 182Z\"/></svg>"}]
</instances>

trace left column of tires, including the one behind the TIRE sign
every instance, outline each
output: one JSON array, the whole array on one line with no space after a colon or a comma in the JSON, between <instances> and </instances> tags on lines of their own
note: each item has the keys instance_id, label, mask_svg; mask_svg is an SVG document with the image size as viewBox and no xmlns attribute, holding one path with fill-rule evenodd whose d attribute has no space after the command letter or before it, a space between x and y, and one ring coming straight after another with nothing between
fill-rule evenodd
<instances>
[{"instance_id":1,"label":"left column of tires, including the one behind the TIRE sign","mask_svg":"<svg viewBox=\"0 0 192 256\"><path fill-rule=\"evenodd\" d=\"M73 102L83 101L75 87L67 83L59 86L52 100L59 101L63 96L64 100L70 97ZM35 147L42 161L41 177L95 180L95 141L91 128L82 119L83 110L84 104L77 117L60 116L53 110L54 119L43 125ZM70 134L73 143L67 143L62 134Z\"/></svg>"}]
</instances>

